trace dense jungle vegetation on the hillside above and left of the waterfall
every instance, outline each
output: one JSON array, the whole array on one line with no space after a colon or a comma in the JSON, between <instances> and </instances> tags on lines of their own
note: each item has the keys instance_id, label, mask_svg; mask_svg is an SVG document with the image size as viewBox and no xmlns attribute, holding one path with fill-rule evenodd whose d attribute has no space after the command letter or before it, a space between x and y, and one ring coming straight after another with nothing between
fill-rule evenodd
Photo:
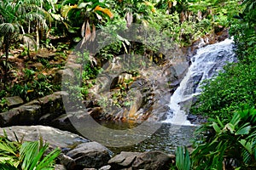
<instances>
[{"instance_id":1,"label":"dense jungle vegetation on the hillside above and left of the waterfall","mask_svg":"<svg viewBox=\"0 0 256 170\"><path fill-rule=\"evenodd\" d=\"M219 5L225 8L219 8ZM145 54L154 62L160 54L137 42L118 36L119 29L131 23L143 24L161 31L180 47L189 46L198 37L229 26L230 14L236 14L236 1L51 1L3 0L0 3L0 111L6 111L4 97L19 95L24 101L37 99L56 90L54 68L65 65L69 49L80 40L93 42L97 30L111 31L117 42L102 48L101 53L88 59L96 65L84 65L83 84L77 89L86 98L88 88L108 59L120 54ZM229 10L228 10L229 8ZM38 58L41 49L55 53L54 59ZM16 58L23 61L20 67ZM159 59L160 58L160 59ZM18 61L20 62L20 61ZM43 69L33 63L43 64Z\"/></svg>"}]
</instances>

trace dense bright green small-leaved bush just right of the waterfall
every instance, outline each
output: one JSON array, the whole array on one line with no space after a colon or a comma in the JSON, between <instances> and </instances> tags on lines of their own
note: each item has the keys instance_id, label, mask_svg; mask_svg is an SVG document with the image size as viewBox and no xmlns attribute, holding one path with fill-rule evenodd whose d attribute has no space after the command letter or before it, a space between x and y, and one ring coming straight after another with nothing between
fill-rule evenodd
<instances>
[{"instance_id":1,"label":"dense bright green small-leaved bush just right of the waterfall","mask_svg":"<svg viewBox=\"0 0 256 170\"><path fill-rule=\"evenodd\" d=\"M203 93L191 108L194 114L230 118L233 111L256 104L256 63L236 63L203 86Z\"/></svg>"}]
</instances>

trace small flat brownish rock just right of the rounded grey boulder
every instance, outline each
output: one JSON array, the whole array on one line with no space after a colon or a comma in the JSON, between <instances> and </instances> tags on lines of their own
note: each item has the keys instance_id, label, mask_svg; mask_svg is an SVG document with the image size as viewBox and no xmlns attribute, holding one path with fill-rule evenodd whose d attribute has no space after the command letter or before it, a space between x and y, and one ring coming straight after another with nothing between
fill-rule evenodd
<instances>
[{"instance_id":1,"label":"small flat brownish rock just right of the rounded grey boulder","mask_svg":"<svg viewBox=\"0 0 256 170\"><path fill-rule=\"evenodd\" d=\"M133 161L137 156L142 155L140 152L127 152L122 151L119 155L114 156L108 161L108 164L111 166L111 169L121 169L125 167L131 167Z\"/></svg>"}]
</instances>

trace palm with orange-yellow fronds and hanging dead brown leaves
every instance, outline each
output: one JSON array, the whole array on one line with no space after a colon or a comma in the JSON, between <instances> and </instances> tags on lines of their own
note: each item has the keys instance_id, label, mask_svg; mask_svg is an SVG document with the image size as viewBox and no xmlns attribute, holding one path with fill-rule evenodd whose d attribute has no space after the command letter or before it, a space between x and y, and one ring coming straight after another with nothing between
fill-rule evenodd
<instances>
[{"instance_id":1,"label":"palm with orange-yellow fronds and hanging dead brown leaves","mask_svg":"<svg viewBox=\"0 0 256 170\"><path fill-rule=\"evenodd\" d=\"M99 0L87 3L79 0L63 1L61 15L69 23L66 23L69 32L78 33L80 30L83 43L94 40L97 25L103 25L108 18L113 19L113 13ZM73 40L79 42L81 38L75 37Z\"/></svg>"}]
</instances>

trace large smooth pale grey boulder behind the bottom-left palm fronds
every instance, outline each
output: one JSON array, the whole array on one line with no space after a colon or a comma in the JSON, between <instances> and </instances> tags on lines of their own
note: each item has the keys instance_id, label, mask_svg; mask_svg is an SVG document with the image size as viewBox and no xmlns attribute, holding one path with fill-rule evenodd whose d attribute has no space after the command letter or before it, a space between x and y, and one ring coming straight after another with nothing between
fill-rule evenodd
<instances>
[{"instance_id":1,"label":"large smooth pale grey boulder behind the bottom-left palm fronds","mask_svg":"<svg viewBox=\"0 0 256 170\"><path fill-rule=\"evenodd\" d=\"M25 141L38 140L40 136L46 141L49 146L55 148L60 147L61 150L71 150L74 146L86 143L89 140L80 137L77 134L61 131L54 127L46 126L13 126L0 128L0 134L3 135L3 130L7 133L9 139L18 139ZM15 134L14 134L15 133Z\"/></svg>"}]
</instances>

